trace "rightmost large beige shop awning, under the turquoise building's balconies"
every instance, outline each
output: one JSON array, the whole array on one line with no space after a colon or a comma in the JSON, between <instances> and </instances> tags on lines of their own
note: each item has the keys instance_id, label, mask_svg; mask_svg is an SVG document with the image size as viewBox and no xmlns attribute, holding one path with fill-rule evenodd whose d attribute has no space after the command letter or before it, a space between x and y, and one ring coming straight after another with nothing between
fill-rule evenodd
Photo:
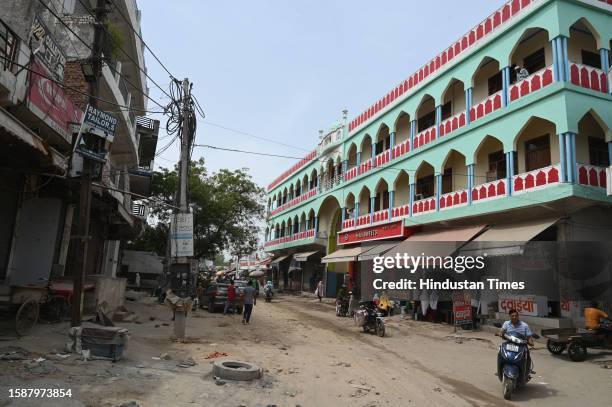
<instances>
[{"instance_id":1,"label":"rightmost large beige shop awning, under the turquoise building's balconies","mask_svg":"<svg viewBox=\"0 0 612 407\"><path fill-rule=\"evenodd\" d=\"M492 226L461 251L465 254L478 255L486 250L488 256L522 254L526 242L529 242L558 221L559 218L548 218Z\"/></svg>"}]
</instances>

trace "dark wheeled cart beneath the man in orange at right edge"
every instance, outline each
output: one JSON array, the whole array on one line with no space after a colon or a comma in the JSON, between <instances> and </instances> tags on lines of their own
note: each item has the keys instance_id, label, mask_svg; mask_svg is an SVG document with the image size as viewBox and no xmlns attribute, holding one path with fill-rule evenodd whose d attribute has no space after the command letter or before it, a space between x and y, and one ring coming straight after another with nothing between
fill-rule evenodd
<instances>
[{"instance_id":1,"label":"dark wheeled cart beneath the man in orange at right edge","mask_svg":"<svg viewBox=\"0 0 612 407\"><path fill-rule=\"evenodd\" d=\"M587 348L612 349L605 337L583 328L542 329L547 338L546 348L553 355L560 355L565 349L570 359L582 362L587 357Z\"/></svg>"}]
</instances>

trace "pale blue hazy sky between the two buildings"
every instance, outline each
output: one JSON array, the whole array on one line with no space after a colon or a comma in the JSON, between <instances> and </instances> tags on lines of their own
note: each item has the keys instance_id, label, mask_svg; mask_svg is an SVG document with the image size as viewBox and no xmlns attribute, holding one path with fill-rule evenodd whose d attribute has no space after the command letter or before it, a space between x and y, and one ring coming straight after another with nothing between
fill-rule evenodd
<instances>
[{"instance_id":1,"label":"pale blue hazy sky between the two buildings","mask_svg":"<svg viewBox=\"0 0 612 407\"><path fill-rule=\"evenodd\" d=\"M193 82L206 114L196 143L303 157L343 109L355 117L504 2L139 0L138 6L147 45L175 77ZM148 52L145 60L149 75L167 87L168 74ZM149 87L152 98L168 103ZM158 110L150 101L149 109ZM164 118L152 117L165 127ZM178 156L176 143L156 167L171 168ZM201 147L194 151L199 157L210 172L248 168L262 187L297 161Z\"/></svg>"}]
</instances>

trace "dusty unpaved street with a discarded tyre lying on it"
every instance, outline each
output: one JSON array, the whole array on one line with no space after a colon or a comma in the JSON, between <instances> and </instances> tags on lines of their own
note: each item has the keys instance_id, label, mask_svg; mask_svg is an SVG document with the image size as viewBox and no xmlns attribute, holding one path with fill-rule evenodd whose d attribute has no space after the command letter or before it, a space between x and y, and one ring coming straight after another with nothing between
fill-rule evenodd
<instances>
[{"instance_id":1,"label":"dusty unpaved street with a discarded tyre lying on it","mask_svg":"<svg viewBox=\"0 0 612 407\"><path fill-rule=\"evenodd\" d=\"M131 332L126 358L118 363L61 359L65 326L40 326L29 338L0 342L49 359L46 366L0 361L0 405L40 405L8 399L9 387L71 388L73 398L45 405L118 406L603 406L612 394L612 370L596 362L553 357L542 344L534 351L536 377L501 398L494 375L497 338L487 332L459 333L423 322L388 319L387 336L364 334L330 304L282 296L260 301L250 325L238 316L200 310L188 319L188 343L176 343L170 313L151 299L129 303L141 323L123 323ZM264 370L254 382L215 384L210 353L253 362ZM158 360L168 353L168 360ZM177 364L192 357L197 365ZM612 362L611 362L612 364ZM83 369L85 368L85 369ZM42 371L41 371L42 370ZM9 403L9 404L7 404Z\"/></svg>"}]
</instances>

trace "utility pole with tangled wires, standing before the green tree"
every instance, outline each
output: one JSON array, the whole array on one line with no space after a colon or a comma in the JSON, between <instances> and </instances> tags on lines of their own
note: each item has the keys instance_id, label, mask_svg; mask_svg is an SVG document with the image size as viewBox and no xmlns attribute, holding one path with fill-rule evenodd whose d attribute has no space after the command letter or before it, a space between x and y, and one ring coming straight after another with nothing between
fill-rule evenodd
<instances>
[{"instance_id":1,"label":"utility pole with tangled wires, standing before the green tree","mask_svg":"<svg viewBox=\"0 0 612 407\"><path fill-rule=\"evenodd\" d=\"M180 186L179 186L179 202L178 207L179 214L187 215L189 214L189 205L187 203L187 185L189 178L189 166L190 166L190 158L189 158L189 145L190 138L192 134L190 134L189 130L189 115L191 112L191 89L189 84L189 79L183 79L183 104L181 106L181 116L183 117L182 130L181 130L181 160L180 160ZM195 135L193 135L195 136ZM176 262L179 264L183 273L186 273L188 278L185 280L181 277L182 283L185 284L183 295L189 295L189 290L191 289L191 263L190 257L186 256L177 256ZM181 290L182 291L182 290ZM186 310L177 310L174 313L174 335L182 339L185 337L185 317L187 311Z\"/></svg>"}]
</instances>

